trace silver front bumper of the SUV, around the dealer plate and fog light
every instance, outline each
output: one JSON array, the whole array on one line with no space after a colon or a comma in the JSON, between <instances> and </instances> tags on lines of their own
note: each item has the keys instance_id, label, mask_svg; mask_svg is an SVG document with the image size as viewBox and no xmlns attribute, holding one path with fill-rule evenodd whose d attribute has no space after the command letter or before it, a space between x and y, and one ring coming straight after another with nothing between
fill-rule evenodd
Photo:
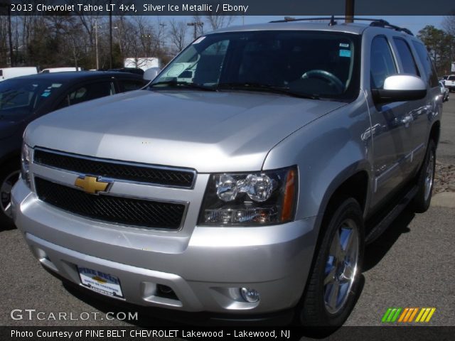
<instances>
[{"instance_id":1,"label":"silver front bumper of the SUV, around the dealer plate and fog light","mask_svg":"<svg viewBox=\"0 0 455 341\"><path fill-rule=\"evenodd\" d=\"M38 200L22 180L16 226L36 258L80 286L77 266L117 276L125 301L190 312L258 314L298 303L309 274L316 218L264 227L194 227L191 234L132 229L78 217ZM161 296L158 284L176 298ZM239 295L255 288L257 303ZM88 289L87 289L88 290Z\"/></svg>"}]
</instances>

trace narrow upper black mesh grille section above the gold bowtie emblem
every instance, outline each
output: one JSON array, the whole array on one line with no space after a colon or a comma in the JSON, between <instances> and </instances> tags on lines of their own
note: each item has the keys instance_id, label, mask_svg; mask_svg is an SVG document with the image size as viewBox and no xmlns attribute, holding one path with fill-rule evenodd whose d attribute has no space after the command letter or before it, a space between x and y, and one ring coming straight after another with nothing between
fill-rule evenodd
<instances>
[{"instance_id":1,"label":"narrow upper black mesh grille section above the gold bowtie emblem","mask_svg":"<svg viewBox=\"0 0 455 341\"><path fill-rule=\"evenodd\" d=\"M65 171L104 176L119 180L153 183L173 187L192 188L194 171L134 165L119 161L86 158L36 149L33 162Z\"/></svg>"}]
</instances>

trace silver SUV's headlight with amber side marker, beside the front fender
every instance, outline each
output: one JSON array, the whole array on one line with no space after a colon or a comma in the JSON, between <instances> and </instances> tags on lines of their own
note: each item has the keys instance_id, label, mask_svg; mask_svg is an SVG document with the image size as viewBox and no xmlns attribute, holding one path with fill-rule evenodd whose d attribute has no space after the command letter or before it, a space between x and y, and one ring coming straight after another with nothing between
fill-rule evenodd
<instances>
[{"instance_id":1,"label":"silver SUV's headlight with amber side marker, beside the front fender","mask_svg":"<svg viewBox=\"0 0 455 341\"><path fill-rule=\"evenodd\" d=\"M199 224L279 224L294 219L296 167L258 173L212 174Z\"/></svg>"}]
</instances>

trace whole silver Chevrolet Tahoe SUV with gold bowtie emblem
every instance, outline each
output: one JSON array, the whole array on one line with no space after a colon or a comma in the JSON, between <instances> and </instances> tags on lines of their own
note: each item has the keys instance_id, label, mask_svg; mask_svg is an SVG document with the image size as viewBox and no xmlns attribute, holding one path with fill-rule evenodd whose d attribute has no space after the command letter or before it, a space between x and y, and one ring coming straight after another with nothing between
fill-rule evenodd
<instances>
[{"instance_id":1,"label":"whole silver Chevrolet Tahoe SUV with gold bowtie emblem","mask_svg":"<svg viewBox=\"0 0 455 341\"><path fill-rule=\"evenodd\" d=\"M429 207L441 105L427 49L385 21L227 28L144 90L33 121L14 219L116 300L341 325L364 245Z\"/></svg>"}]
</instances>

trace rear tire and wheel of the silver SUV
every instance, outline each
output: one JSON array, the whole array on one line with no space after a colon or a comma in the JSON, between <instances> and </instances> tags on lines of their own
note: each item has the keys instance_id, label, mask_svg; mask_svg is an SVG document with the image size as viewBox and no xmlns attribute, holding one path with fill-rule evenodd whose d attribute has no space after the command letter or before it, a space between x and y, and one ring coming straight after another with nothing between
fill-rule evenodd
<instances>
[{"instance_id":1,"label":"rear tire and wheel of the silver SUV","mask_svg":"<svg viewBox=\"0 0 455 341\"><path fill-rule=\"evenodd\" d=\"M419 171L417 180L417 194L411 202L414 212L422 213L428 210L432 201L434 186L434 168L436 166L436 145L432 139L429 140L424 163Z\"/></svg>"}]
</instances>

